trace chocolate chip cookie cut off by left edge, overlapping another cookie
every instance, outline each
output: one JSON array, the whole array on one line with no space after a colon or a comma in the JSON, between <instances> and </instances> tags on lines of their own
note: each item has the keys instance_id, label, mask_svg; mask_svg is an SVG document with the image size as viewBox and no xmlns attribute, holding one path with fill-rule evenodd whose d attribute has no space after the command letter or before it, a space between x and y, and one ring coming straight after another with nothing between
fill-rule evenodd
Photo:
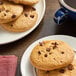
<instances>
[{"instance_id":1,"label":"chocolate chip cookie cut off by left edge, overlapping another cookie","mask_svg":"<svg viewBox=\"0 0 76 76\"><path fill-rule=\"evenodd\" d=\"M0 23L14 21L22 12L23 6L0 0Z\"/></svg>"}]
</instances>

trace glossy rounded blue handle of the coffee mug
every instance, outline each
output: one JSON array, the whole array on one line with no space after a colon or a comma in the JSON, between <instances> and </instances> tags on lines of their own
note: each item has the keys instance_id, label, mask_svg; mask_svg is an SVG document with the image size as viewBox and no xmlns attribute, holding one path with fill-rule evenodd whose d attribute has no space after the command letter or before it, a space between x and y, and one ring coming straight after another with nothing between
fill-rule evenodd
<instances>
[{"instance_id":1,"label":"glossy rounded blue handle of the coffee mug","mask_svg":"<svg viewBox=\"0 0 76 76\"><path fill-rule=\"evenodd\" d=\"M54 15L54 21L57 24L63 23L68 18L68 11L60 8Z\"/></svg>"}]
</instances>

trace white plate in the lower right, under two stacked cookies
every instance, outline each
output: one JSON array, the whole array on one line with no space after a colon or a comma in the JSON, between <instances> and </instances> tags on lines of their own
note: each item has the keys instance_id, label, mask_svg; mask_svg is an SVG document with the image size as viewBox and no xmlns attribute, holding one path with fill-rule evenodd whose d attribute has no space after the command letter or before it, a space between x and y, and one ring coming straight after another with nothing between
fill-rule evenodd
<instances>
[{"instance_id":1,"label":"white plate in the lower right, under two stacked cookies","mask_svg":"<svg viewBox=\"0 0 76 76\"><path fill-rule=\"evenodd\" d=\"M62 40L62 41L65 41L66 43L68 43L74 50L76 50L76 38L74 38L72 36L53 35L53 36L48 36L48 37L39 39L39 40L35 41L33 44L31 44L22 56L21 65L20 65L22 76L26 76L26 75L34 76L33 67L30 64L30 59L29 59L30 53L36 44L38 44L39 42L42 42L44 40Z\"/></svg>"}]
</instances>

